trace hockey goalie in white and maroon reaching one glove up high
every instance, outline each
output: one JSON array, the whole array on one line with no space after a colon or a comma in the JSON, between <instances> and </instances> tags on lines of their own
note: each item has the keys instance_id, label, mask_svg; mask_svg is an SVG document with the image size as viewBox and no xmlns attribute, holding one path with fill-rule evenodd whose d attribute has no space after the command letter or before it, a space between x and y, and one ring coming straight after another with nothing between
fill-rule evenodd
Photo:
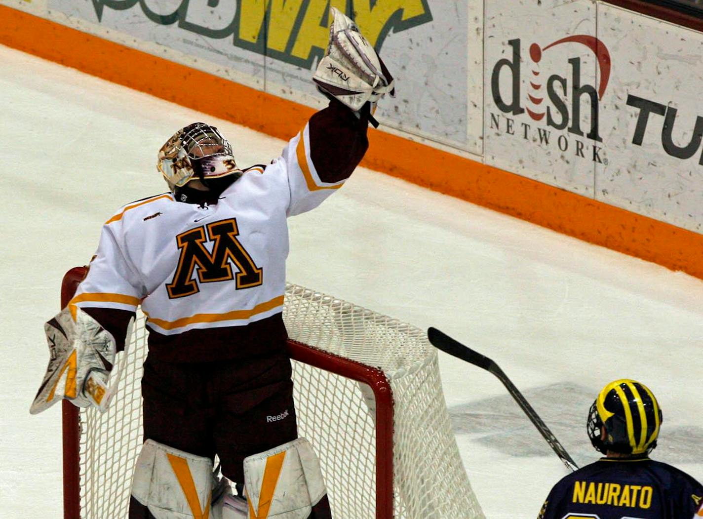
<instances>
[{"instance_id":1,"label":"hockey goalie in white and maroon reaching one glove up high","mask_svg":"<svg viewBox=\"0 0 703 519\"><path fill-rule=\"evenodd\" d=\"M209 124L179 129L158 153L169 191L105 222L75 297L45 325L51 359L30 412L60 399L105 410L136 307L147 316L130 519L330 517L316 454L297 435L286 219L342 187L394 89L359 27L334 8L330 18L313 76L328 107L268 165L240 168Z\"/></svg>"}]
</instances>

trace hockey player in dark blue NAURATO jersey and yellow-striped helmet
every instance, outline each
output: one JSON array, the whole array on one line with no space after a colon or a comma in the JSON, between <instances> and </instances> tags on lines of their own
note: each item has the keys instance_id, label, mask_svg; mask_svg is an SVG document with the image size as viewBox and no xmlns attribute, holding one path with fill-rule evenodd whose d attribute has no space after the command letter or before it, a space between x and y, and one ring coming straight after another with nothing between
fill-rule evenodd
<instances>
[{"instance_id":1,"label":"hockey player in dark blue NAURATO jersey and yellow-striped helmet","mask_svg":"<svg viewBox=\"0 0 703 519\"><path fill-rule=\"evenodd\" d=\"M538 519L690 519L703 486L671 465L650 459L662 410L642 383L615 380L588 413L588 436L605 457L562 478Z\"/></svg>"}]
</instances>

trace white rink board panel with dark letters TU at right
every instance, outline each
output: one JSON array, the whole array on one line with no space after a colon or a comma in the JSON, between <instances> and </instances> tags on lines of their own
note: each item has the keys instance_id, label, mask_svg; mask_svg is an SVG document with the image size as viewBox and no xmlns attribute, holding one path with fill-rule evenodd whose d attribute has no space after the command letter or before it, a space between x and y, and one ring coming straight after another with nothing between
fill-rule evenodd
<instances>
[{"instance_id":1,"label":"white rink board panel with dark letters TU at right","mask_svg":"<svg viewBox=\"0 0 703 519\"><path fill-rule=\"evenodd\" d=\"M598 30L614 73L595 198L702 231L703 34L607 4Z\"/></svg>"}]
</instances>

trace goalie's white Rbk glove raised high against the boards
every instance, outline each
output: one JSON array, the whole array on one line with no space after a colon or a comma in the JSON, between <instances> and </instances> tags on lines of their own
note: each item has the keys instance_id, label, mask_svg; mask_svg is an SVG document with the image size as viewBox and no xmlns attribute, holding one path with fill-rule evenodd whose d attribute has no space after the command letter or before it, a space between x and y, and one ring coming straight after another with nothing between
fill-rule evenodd
<instances>
[{"instance_id":1,"label":"goalie's white Rbk glove raised high against the boards","mask_svg":"<svg viewBox=\"0 0 703 519\"><path fill-rule=\"evenodd\" d=\"M330 41L313 81L325 96L337 99L355 113L368 110L368 120L378 127L373 112L385 94L395 95L394 79L359 27L336 8L330 12L334 18Z\"/></svg>"}]
</instances>

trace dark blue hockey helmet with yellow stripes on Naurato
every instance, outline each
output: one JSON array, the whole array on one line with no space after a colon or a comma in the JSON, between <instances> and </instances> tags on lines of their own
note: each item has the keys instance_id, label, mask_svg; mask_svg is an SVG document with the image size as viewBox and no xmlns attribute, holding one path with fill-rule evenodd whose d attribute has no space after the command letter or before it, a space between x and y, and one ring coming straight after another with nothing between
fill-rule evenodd
<instances>
[{"instance_id":1,"label":"dark blue hockey helmet with yellow stripes on Naurato","mask_svg":"<svg viewBox=\"0 0 703 519\"><path fill-rule=\"evenodd\" d=\"M586 428L596 450L649 454L657 447L662 410L652 392L636 380L615 380L603 387L588 412ZM601 428L605 428L605 440Z\"/></svg>"}]
</instances>

